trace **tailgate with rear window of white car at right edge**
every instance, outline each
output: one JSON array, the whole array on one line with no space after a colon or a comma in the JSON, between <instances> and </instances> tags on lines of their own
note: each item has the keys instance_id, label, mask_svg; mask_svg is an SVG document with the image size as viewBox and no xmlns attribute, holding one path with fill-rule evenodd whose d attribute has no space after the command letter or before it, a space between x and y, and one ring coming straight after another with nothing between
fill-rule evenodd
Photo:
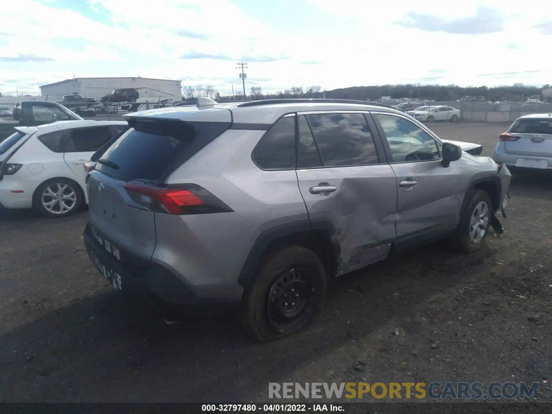
<instances>
[{"instance_id":1,"label":"tailgate with rear window of white car at right edge","mask_svg":"<svg viewBox=\"0 0 552 414\"><path fill-rule=\"evenodd\" d=\"M518 139L505 142L507 152L552 157L552 118L521 118L508 132Z\"/></svg>"}]
</instances>

